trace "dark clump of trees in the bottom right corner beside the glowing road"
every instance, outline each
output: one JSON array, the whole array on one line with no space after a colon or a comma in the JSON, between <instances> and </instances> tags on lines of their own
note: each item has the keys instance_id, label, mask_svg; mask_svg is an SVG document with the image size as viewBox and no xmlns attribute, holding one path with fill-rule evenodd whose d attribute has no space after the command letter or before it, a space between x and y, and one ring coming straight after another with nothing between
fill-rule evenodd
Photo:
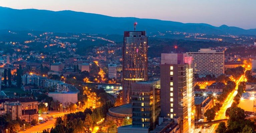
<instances>
[{"instance_id":1,"label":"dark clump of trees in the bottom right corner beside the glowing road","mask_svg":"<svg viewBox=\"0 0 256 133\"><path fill-rule=\"evenodd\" d=\"M216 133L254 133L255 120L245 119L244 110L239 107L229 107L225 114L229 119L227 126L220 122Z\"/></svg>"}]
</instances>

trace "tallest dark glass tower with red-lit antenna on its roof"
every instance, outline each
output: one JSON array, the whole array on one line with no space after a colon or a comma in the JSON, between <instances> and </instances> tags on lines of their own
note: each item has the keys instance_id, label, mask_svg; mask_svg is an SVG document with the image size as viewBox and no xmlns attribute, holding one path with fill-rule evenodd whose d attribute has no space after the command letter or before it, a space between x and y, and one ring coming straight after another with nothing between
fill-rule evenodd
<instances>
[{"instance_id":1,"label":"tallest dark glass tower with red-lit antenna on its roof","mask_svg":"<svg viewBox=\"0 0 256 133\"><path fill-rule=\"evenodd\" d=\"M134 26L136 27L136 24ZM134 28L135 29L135 28ZM125 31L123 37L123 103L130 103L134 82L148 80L148 37L146 31Z\"/></svg>"}]
</instances>

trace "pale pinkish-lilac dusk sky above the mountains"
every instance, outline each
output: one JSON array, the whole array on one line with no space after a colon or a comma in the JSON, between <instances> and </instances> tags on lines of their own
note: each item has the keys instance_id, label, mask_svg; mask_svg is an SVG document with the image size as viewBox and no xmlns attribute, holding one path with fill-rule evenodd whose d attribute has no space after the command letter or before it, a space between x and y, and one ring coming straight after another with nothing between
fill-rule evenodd
<instances>
[{"instance_id":1,"label":"pale pinkish-lilac dusk sky above the mountains","mask_svg":"<svg viewBox=\"0 0 256 133\"><path fill-rule=\"evenodd\" d=\"M256 28L256 0L0 0L14 9L72 10L213 26Z\"/></svg>"}]
</instances>

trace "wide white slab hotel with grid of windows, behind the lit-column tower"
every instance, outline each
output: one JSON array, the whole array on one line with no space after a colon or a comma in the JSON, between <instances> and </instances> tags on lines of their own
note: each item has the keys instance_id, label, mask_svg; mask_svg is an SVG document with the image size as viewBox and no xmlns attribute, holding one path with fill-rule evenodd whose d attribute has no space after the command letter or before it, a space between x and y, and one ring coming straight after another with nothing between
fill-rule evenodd
<instances>
[{"instance_id":1,"label":"wide white slab hotel with grid of windows, behind the lit-column tower","mask_svg":"<svg viewBox=\"0 0 256 133\"><path fill-rule=\"evenodd\" d=\"M224 52L216 52L211 49L200 49L198 52L188 52L188 56L193 58L195 73L205 76L214 74L219 76L224 74Z\"/></svg>"}]
</instances>

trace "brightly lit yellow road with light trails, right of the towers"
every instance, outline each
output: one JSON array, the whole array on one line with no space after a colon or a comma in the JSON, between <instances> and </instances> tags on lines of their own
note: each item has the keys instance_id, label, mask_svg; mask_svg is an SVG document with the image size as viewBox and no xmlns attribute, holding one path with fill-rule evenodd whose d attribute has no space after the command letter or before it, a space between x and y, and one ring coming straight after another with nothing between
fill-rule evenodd
<instances>
[{"instance_id":1,"label":"brightly lit yellow road with light trails, right of the towers","mask_svg":"<svg viewBox=\"0 0 256 133\"><path fill-rule=\"evenodd\" d=\"M239 82L243 81L244 80L244 75L242 75L237 81L236 81L236 87L235 87L235 90L232 91L227 99L225 100L223 106L221 107L220 111L218 112L218 115L215 117L214 120L221 120L221 119L226 119L226 116L225 116L225 113L226 113L226 110L227 108L231 107L231 104L233 102L233 99L234 97L236 96L237 94L237 88L238 88L238 85L239 85ZM215 130L217 129L218 127L218 123L217 124L213 124L210 129L206 128L206 129L201 129L201 132L202 133L215 133Z\"/></svg>"}]
</instances>

